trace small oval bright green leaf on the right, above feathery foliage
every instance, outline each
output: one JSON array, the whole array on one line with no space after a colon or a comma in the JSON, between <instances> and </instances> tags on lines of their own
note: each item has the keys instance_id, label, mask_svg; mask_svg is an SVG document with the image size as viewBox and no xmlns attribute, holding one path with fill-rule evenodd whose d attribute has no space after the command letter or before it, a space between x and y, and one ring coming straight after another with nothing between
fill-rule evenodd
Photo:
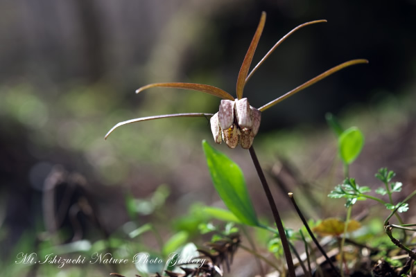
<instances>
[{"instance_id":1,"label":"small oval bright green leaf on the right, above feathery foliage","mask_svg":"<svg viewBox=\"0 0 416 277\"><path fill-rule=\"evenodd\" d=\"M340 157L346 164L351 164L360 154L364 145L364 135L357 127L346 129L338 138Z\"/></svg>"}]
</instances>

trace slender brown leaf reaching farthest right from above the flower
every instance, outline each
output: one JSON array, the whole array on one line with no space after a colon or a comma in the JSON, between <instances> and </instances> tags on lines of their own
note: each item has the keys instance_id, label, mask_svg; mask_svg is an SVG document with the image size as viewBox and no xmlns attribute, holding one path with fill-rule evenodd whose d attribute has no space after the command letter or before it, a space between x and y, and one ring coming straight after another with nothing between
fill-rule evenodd
<instances>
[{"instance_id":1,"label":"slender brown leaf reaching farthest right from above the flower","mask_svg":"<svg viewBox=\"0 0 416 277\"><path fill-rule=\"evenodd\" d=\"M302 91L302 89L306 89L306 87L311 86L312 84L315 84L315 82L318 82L329 75L336 73L336 71L340 71L341 69L345 69L345 67L352 66L354 64L368 64L367 60L358 59L358 60L350 60L348 62L344 62L343 64L338 64L337 66L334 66L333 68L325 71L324 73L316 76L315 78L312 78L308 82L304 82L299 87L289 91L288 93L285 93L284 95L280 96L279 98L276 98L275 100L272 100L271 102L268 102L266 105L263 105L259 107L259 111L264 111L274 105L276 105L278 102L281 102L282 100L285 100L286 98L293 96L293 94Z\"/></svg>"}]
</instances>

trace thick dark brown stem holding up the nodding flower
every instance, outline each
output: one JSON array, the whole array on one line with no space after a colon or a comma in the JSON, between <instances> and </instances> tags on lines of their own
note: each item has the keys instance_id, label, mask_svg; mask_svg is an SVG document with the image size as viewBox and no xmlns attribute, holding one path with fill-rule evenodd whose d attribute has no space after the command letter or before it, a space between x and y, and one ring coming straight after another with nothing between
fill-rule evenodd
<instances>
[{"instance_id":1,"label":"thick dark brown stem holding up the nodding flower","mask_svg":"<svg viewBox=\"0 0 416 277\"><path fill-rule=\"evenodd\" d=\"M289 248L288 239L286 238L286 233L284 231L283 224L281 223L279 211L277 211L275 199L273 199L272 192L270 191L270 188L267 184L266 177L264 176L263 170L261 169L259 159L257 159L257 155L256 155L256 152L254 152L254 148L250 147L248 151L250 152L250 156L252 157L254 167L257 170L257 175L259 175L261 185L263 185L264 193L266 193L266 197L268 199L270 208L272 209L273 217L275 218L277 231L279 231L281 245L283 247L284 256L286 257L286 263L288 265L289 276L296 277L295 267L293 266L293 260L292 260L292 255L291 255L291 249Z\"/></svg>"}]
</instances>

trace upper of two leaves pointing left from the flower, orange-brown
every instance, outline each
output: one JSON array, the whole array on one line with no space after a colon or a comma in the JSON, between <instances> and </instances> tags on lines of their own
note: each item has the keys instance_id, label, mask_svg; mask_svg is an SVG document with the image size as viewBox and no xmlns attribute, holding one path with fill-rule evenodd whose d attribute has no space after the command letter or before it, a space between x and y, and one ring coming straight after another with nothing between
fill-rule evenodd
<instances>
[{"instance_id":1,"label":"upper of two leaves pointing left from the flower, orange-brown","mask_svg":"<svg viewBox=\"0 0 416 277\"><path fill-rule=\"evenodd\" d=\"M189 82L157 82L155 84L148 84L140 89L136 90L136 93L140 93L145 89L150 89L152 87L169 87L173 89L189 89L193 91L202 91L213 96L219 97L221 99L233 100L231 94L227 93L223 89L219 89L218 87L210 86L209 84L193 84Z\"/></svg>"}]
</instances>

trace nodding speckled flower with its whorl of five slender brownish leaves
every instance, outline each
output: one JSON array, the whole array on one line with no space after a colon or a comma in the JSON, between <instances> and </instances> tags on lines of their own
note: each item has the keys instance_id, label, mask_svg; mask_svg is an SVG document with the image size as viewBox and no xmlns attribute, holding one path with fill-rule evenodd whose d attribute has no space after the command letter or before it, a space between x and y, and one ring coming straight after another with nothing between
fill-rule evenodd
<instances>
[{"instance_id":1,"label":"nodding speckled flower with its whorl of five slender brownish leaves","mask_svg":"<svg viewBox=\"0 0 416 277\"><path fill-rule=\"evenodd\" d=\"M214 141L216 143L221 143L224 141L229 148L236 148L237 145L241 145L244 149L249 149L253 143L254 136L257 135L260 127L261 121L261 112L276 105L281 100L284 100L293 94L309 87L311 84L315 84L326 78L327 76L339 71L340 69L344 69L347 66L351 66L353 64L364 64L368 63L367 60L358 59L358 60L350 60L348 62L343 62L342 64L338 64L333 68L321 73L320 75L312 78L311 80L304 82L299 87L288 91L283 96L276 98L268 102L266 105L259 107L258 109L250 106L247 98L243 98L243 90L245 84L248 80L252 77L253 73L259 69L259 66L263 64L263 62L270 56L270 54L275 51L275 48L284 42L284 40L295 33L296 30L304 26L308 26L311 24L327 22L326 20L315 20L306 22L297 26L289 33L284 35L279 41L266 53L266 55L260 60L260 62L254 66L254 69L249 74L250 65L254 56L254 52L256 51L257 44L259 44L259 39L261 37L261 33L263 32L264 24L266 22L266 12L262 12L259 26L257 26L256 33L254 33L254 37L252 42L248 48L247 53L245 54L245 58L243 60L243 64L241 66L239 77L237 78L236 84L236 98L234 98L231 94L227 93L227 91L223 91L223 89L219 89L218 87L213 87L208 84L193 84L193 83L184 83L184 82L162 82L162 83L155 83L155 84L148 84L140 89L137 89L136 93L144 91L145 89L150 89L152 87L170 87L176 89L190 89L194 91L202 91L205 93L209 93L213 96L217 96L221 98L219 111L216 114L206 114L206 113L191 113L191 114L165 114L160 116L147 116L142 118L135 118L131 120L126 120L121 123L117 123L110 129L110 131L105 135L105 139L109 136L114 129L120 127L121 125L135 123L145 120L153 120L159 118L170 118L170 117L207 117L211 116L210 123L211 123L211 132L214 136Z\"/></svg>"}]
</instances>

